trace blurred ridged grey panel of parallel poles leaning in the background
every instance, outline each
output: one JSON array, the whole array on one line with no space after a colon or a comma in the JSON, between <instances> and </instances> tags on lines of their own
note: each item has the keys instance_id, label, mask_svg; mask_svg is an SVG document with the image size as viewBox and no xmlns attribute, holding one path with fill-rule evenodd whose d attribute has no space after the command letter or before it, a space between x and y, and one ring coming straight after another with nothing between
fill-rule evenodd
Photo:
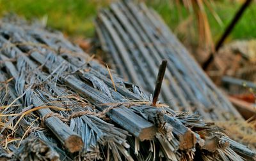
<instances>
[{"instance_id":1,"label":"blurred ridged grey panel of parallel poles leaning in the background","mask_svg":"<svg viewBox=\"0 0 256 161\"><path fill-rule=\"evenodd\" d=\"M175 110L198 112L207 120L241 115L205 75L154 10L123 1L102 10L95 21L100 48L124 79L153 94L157 67L168 60L162 101Z\"/></svg>"}]
</instances>

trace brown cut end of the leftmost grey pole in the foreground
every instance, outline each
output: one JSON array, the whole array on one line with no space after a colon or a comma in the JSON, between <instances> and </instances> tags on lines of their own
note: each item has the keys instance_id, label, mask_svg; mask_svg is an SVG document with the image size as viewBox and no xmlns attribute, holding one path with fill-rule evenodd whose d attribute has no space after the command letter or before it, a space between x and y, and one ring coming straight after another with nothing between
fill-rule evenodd
<instances>
[{"instance_id":1,"label":"brown cut end of the leftmost grey pole in the foreground","mask_svg":"<svg viewBox=\"0 0 256 161\"><path fill-rule=\"evenodd\" d=\"M72 135L65 140L65 146L71 153L74 153L83 148L83 141L81 137Z\"/></svg>"}]
</instances>

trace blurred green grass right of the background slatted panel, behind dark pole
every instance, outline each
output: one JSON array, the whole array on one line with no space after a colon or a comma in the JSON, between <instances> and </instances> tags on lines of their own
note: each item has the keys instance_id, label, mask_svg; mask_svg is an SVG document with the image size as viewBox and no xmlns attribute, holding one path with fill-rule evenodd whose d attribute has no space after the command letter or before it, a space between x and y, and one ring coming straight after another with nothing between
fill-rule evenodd
<instances>
[{"instance_id":1,"label":"blurred green grass right of the background slatted panel, behind dark pole","mask_svg":"<svg viewBox=\"0 0 256 161\"><path fill-rule=\"evenodd\" d=\"M185 10L185 8L181 8L179 11L177 6L174 4L164 4L164 3L149 3L165 20L166 24L168 24L173 31L179 25L180 18L179 14L181 13L186 20L189 13ZM212 38L214 42L220 38L221 34L225 31L228 23L232 20L236 11L241 7L241 3L237 3L237 1L214 1L213 9L216 11L218 16L221 18L223 25L218 24L212 14L208 11L207 16L209 19L209 25L211 27ZM195 22L196 24L196 22ZM191 26L191 25L190 25ZM195 27L195 26L192 26ZM236 27L230 34L228 39L253 39L256 38L256 4L252 3L249 8L244 12L243 16L236 24ZM186 29L185 29L186 30Z\"/></svg>"}]
</instances>

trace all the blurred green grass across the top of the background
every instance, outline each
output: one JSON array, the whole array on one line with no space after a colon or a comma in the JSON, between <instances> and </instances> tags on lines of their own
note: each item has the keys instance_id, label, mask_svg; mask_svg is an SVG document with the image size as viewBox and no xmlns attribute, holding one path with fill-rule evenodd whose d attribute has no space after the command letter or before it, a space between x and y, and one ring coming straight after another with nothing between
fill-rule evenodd
<instances>
[{"instance_id":1,"label":"all the blurred green grass across the top of the background","mask_svg":"<svg viewBox=\"0 0 256 161\"><path fill-rule=\"evenodd\" d=\"M0 17L5 13L16 13L29 20L33 18L47 17L47 25L63 31L70 36L93 36L93 18L97 10L108 6L109 1L103 0L0 0ZM175 29L179 23L180 11L177 6L168 1L147 1L165 20L171 29ZM214 10L218 13L224 25L219 25L209 15L212 36L214 41L220 37L228 22L232 19L241 4L230 1L216 1ZM182 8L182 15L188 16L188 12ZM244 13L242 19L236 25L230 39L256 38L256 5L252 4Z\"/></svg>"}]
</instances>

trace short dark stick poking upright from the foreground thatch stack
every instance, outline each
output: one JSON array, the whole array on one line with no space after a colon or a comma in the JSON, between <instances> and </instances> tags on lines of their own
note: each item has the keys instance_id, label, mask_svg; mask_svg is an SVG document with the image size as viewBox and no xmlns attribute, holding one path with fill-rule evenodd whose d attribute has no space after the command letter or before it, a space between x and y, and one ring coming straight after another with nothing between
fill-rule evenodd
<instances>
[{"instance_id":1,"label":"short dark stick poking upright from the foreground thatch stack","mask_svg":"<svg viewBox=\"0 0 256 161\"><path fill-rule=\"evenodd\" d=\"M165 73L165 69L167 66L167 60L163 60L162 64L159 66L159 70L158 70L158 75L157 75L157 79L156 79L156 87L154 90L154 97L153 97L153 106L156 106L156 101L158 99L158 96L160 94L160 90L161 90L161 85L164 79L164 73Z\"/></svg>"}]
</instances>

